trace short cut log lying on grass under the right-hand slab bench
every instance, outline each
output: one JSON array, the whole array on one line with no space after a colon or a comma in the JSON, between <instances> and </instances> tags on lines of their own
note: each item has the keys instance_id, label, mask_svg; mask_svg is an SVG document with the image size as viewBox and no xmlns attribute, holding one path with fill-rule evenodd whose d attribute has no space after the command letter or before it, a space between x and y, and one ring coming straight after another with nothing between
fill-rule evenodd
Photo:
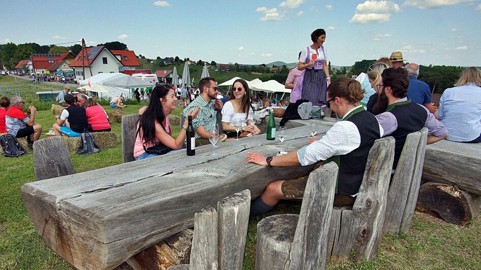
<instances>
[{"instance_id":1,"label":"short cut log lying on grass under the right-hand slab bench","mask_svg":"<svg viewBox=\"0 0 481 270\"><path fill-rule=\"evenodd\" d=\"M452 185L427 182L419 188L417 209L448 223L466 225L478 215L480 206L481 196Z\"/></svg>"}]
</instances>

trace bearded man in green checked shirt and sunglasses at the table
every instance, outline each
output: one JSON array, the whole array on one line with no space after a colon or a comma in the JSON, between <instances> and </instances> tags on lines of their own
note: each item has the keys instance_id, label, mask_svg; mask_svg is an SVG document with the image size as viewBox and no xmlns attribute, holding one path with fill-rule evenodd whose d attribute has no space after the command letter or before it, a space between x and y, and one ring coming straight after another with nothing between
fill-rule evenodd
<instances>
[{"instance_id":1,"label":"bearded man in green checked shirt and sunglasses at the table","mask_svg":"<svg viewBox=\"0 0 481 270\"><path fill-rule=\"evenodd\" d=\"M214 78L203 78L199 82L200 95L193 102L191 102L182 112L184 117L191 110L195 111L197 106L200 107L199 114L192 120L192 125L195 129L195 146L207 145L209 142L209 130L211 126L217 123L216 109L222 110L224 105L220 99L217 99L219 94L219 88L217 88L217 82ZM227 136L221 134L219 136L219 142L225 141Z\"/></svg>"}]
</instances>

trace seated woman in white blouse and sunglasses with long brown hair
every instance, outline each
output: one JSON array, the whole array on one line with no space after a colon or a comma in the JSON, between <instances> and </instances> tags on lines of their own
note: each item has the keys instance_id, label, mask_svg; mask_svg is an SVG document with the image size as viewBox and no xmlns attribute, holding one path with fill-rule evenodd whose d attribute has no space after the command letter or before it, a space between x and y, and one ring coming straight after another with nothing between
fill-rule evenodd
<instances>
[{"instance_id":1,"label":"seated woman in white blouse and sunglasses with long brown hair","mask_svg":"<svg viewBox=\"0 0 481 270\"><path fill-rule=\"evenodd\" d=\"M222 108L222 129L227 132L229 138L237 136L234 128L235 119L241 120L241 131L247 131L254 135L260 134L260 129L252 123L254 110L251 106L249 86L243 79L235 80L230 92L230 99Z\"/></svg>"}]
</instances>

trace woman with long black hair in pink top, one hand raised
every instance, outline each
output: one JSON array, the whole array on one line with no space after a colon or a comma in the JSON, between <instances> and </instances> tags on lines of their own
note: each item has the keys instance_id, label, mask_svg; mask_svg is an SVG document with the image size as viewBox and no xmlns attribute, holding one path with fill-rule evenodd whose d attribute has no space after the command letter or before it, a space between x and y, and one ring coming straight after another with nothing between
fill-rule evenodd
<instances>
[{"instance_id":1,"label":"woman with long black hair in pink top, one hand raised","mask_svg":"<svg viewBox=\"0 0 481 270\"><path fill-rule=\"evenodd\" d=\"M178 134L177 139L172 138L172 127L169 122L169 114L175 109L174 90L170 85L158 84L151 92L148 106L140 116L137 124L137 138L134 145L135 160L158 156L159 154L148 153L147 149L159 144L163 144L174 152L182 148L186 140L186 129L188 117ZM199 108L195 112L189 112L192 118L199 113Z\"/></svg>"}]
</instances>

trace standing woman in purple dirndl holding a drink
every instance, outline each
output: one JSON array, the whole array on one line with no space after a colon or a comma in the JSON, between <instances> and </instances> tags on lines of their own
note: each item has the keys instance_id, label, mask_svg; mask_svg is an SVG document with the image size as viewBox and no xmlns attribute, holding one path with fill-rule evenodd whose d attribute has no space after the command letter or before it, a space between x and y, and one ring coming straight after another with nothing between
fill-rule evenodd
<instances>
[{"instance_id":1,"label":"standing woman in purple dirndl holding a drink","mask_svg":"<svg viewBox=\"0 0 481 270\"><path fill-rule=\"evenodd\" d=\"M303 49L300 53L300 61L297 64L298 70L306 70L302 80L302 98L309 99L313 106L319 107L324 105L321 102L326 101L326 88L328 82L330 82L326 51L322 46L325 39L326 32L324 29L314 30L311 33L313 43ZM298 83L300 83L299 81Z\"/></svg>"}]
</instances>

